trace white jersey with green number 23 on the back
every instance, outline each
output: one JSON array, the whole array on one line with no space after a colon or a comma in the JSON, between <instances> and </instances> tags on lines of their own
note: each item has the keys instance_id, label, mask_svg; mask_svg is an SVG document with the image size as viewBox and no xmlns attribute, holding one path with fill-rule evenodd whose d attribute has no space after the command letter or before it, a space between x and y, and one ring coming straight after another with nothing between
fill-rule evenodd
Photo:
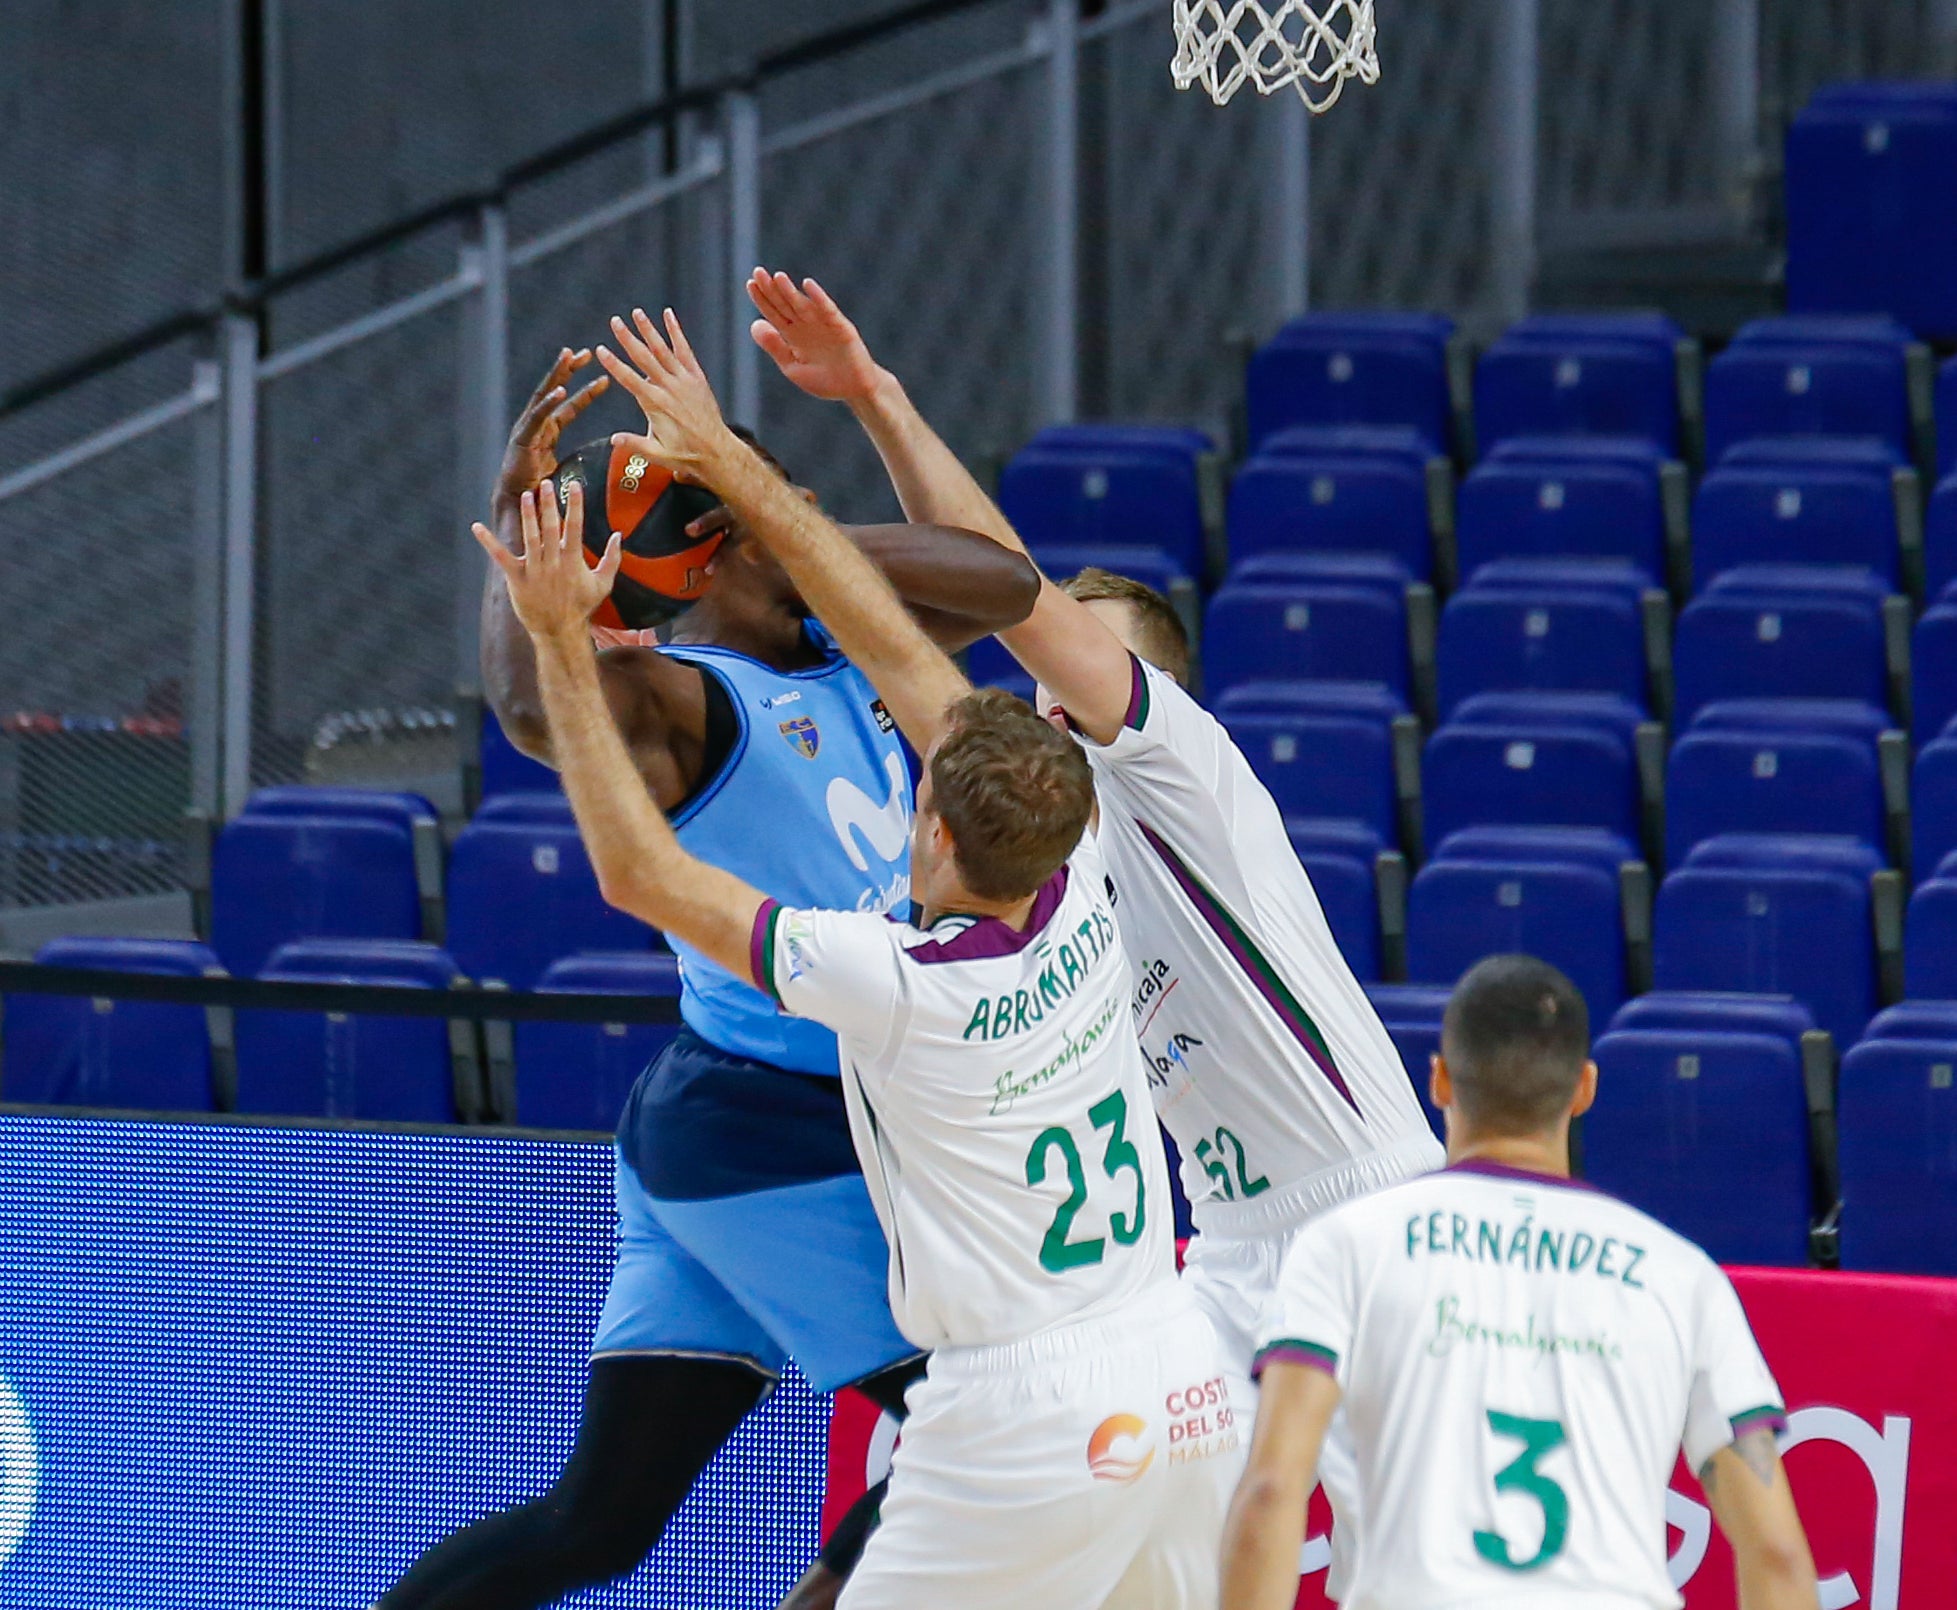
<instances>
[{"instance_id":1,"label":"white jersey with green number 23 on the back","mask_svg":"<svg viewBox=\"0 0 1957 1610\"><path fill-rule=\"evenodd\" d=\"M1024 931L763 906L755 976L836 1029L908 1340L1016 1342L1174 1281L1133 976L1092 837Z\"/></svg>"}]
</instances>

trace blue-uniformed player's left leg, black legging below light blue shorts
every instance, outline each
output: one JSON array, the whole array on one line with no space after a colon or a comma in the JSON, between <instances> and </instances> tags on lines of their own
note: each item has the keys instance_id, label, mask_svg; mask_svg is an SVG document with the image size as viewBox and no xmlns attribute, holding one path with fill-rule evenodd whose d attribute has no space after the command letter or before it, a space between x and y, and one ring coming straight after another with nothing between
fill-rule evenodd
<instances>
[{"instance_id":1,"label":"blue-uniformed player's left leg, black legging below light blue shorts","mask_svg":"<svg viewBox=\"0 0 1957 1610\"><path fill-rule=\"evenodd\" d=\"M540 1498L423 1555L380 1610L538 1610L634 1571L781 1352L660 1227L620 1160L618 1262L577 1444Z\"/></svg>"}]
</instances>

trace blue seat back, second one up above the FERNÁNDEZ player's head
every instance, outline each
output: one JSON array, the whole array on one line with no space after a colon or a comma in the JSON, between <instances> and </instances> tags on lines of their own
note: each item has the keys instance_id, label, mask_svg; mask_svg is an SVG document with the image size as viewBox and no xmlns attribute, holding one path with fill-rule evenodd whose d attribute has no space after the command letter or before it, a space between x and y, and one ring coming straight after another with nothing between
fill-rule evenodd
<instances>
[{"instance_id":1,"label":"blue seat back, second one up above the FERN\u00c1NDEZ player's head","mask_svg":"<svg viewBox=\"0 0 1957 1610\"><path fill-rule=\"evenodd\" d=\"M1421 755L1427 843L1487 824L1605 827L1638 839L1628 749L1570 728L1444 726Z\"/></svg>"}]
</instances>

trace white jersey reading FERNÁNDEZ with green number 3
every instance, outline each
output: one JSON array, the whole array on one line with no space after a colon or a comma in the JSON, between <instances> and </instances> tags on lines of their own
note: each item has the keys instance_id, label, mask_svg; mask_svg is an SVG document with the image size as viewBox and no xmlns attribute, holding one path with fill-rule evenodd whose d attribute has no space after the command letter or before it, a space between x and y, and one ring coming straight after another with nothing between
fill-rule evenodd
<instances>
[{"instance_id":1,"label":"white jersey reading FERN\u00c1NDEZ with green number 3","mask_svg":"<svg viewBox=\"0 0 1957 1610\"><path fill-rule=\"evenodd\" d=\"M1673 1610L1665 1485L1783 1420L1724 1272L1568 1180L1468 1162L1307 1225L1260 1334L1358 1448L1344 1610ZM1346 1540L1348 1545L1352 1540Z\"/></svg>"}]
</instances>

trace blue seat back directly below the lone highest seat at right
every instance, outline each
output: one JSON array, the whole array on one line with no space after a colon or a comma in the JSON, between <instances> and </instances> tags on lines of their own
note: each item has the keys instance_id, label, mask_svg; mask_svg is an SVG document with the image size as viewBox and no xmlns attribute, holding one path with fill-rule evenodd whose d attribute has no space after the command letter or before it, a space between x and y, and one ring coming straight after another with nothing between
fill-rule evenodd
<instances>
[{"instance_id":1,"label":"blue seat back directly below the lone highest seat at right","mask_svg":"<svg viewBox=\"0 0 1957 1610\"><path fill-rule=\"evenodd\" d=\"M1900 350L1736 342L1707 364L1707 460L1748 436L1879 436L1910 450Z\"/></svg>"}]
</instances>

